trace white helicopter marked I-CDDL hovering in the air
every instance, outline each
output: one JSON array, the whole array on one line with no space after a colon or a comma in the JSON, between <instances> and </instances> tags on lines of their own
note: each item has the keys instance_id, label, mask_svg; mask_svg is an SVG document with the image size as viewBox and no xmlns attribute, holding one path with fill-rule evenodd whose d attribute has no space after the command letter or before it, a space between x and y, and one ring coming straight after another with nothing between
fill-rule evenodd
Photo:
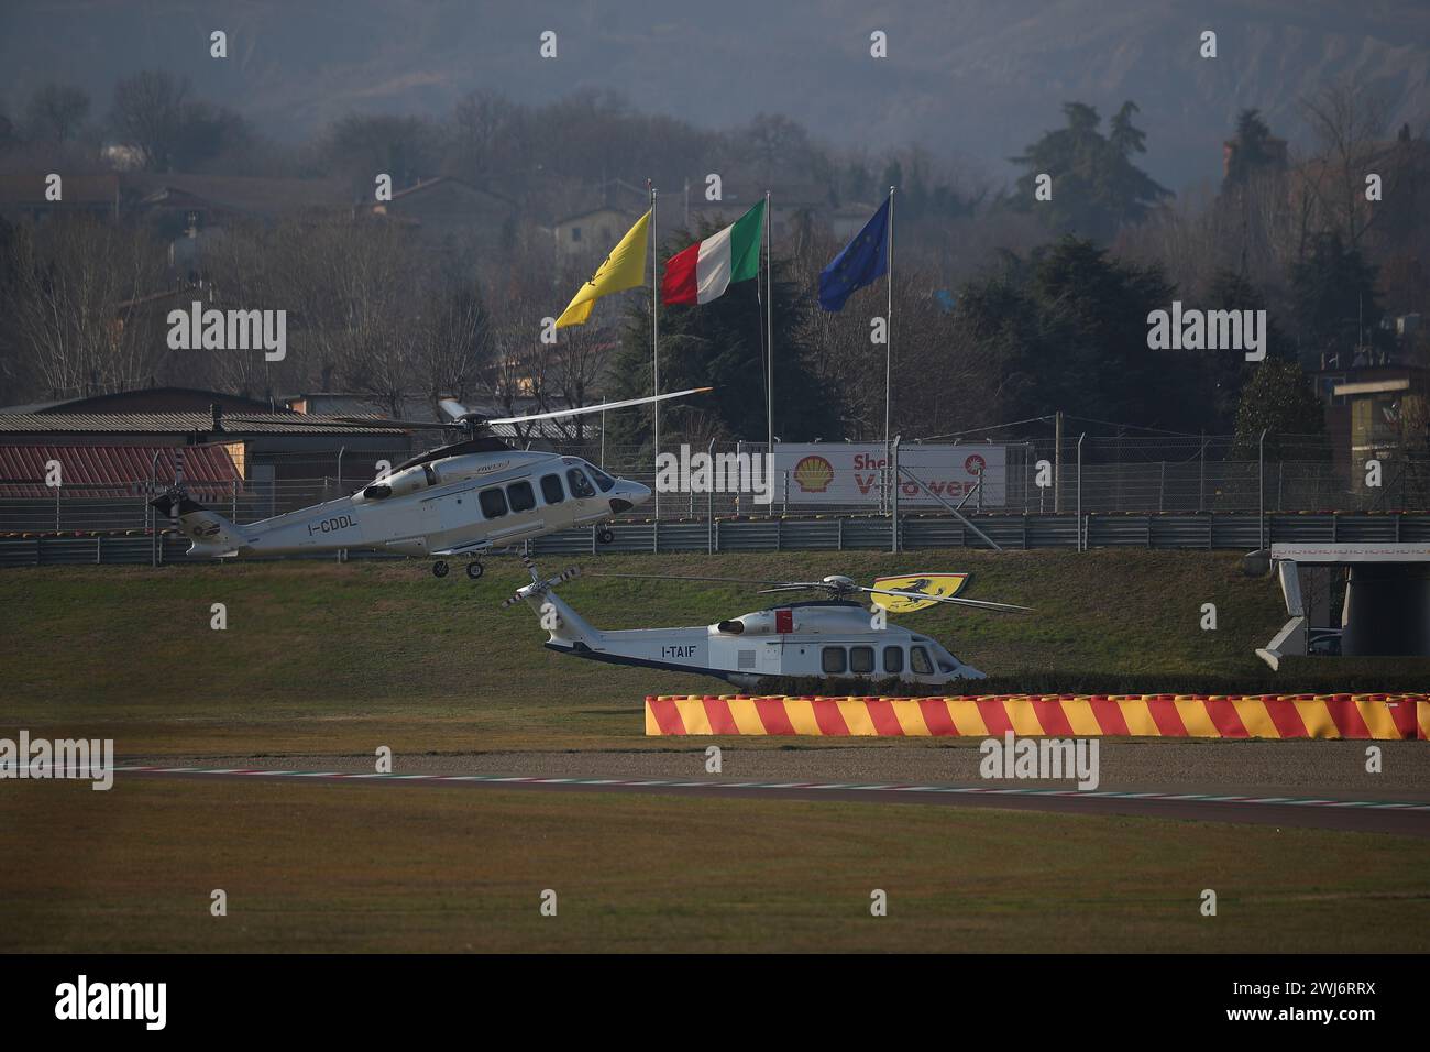
<instances>
[{"instance_id":1,"label":"white helicopter marked I-CDDL hovering in the air","mask_svg":"<svg viewBox=\"0 0 1430 1052\"><path fill-rule=\"evenodd\" d=\"M466 575L475 581L482 575L476 555L489 548L606 522L651 498L641 482L612 478L579 457L515 449L490 432L492 425L623 409L711 389L502 419L486 419L443 399L442 409L468 437L413 457L347 497L245 525L193 501L182 484L150 504L163 515L177 515L179 531L193 541L189 555L242 558L375 548L433 558L436 577L446 577L448 558L472 557ZM395 422L432 427L430 421ZM609 528L596 534L602 544L613 537Z\"/></svg>"}]
</instances>

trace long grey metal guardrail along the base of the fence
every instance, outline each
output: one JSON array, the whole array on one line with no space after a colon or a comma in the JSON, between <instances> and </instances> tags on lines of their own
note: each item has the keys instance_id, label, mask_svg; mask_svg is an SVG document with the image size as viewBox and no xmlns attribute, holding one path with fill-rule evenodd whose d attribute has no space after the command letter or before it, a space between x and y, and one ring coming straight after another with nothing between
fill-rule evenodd
<instances>
[{"instance_id":1,"label":"long grey metal guardrail along the base of the fence","mask_svg":"<svg viewBox=\"0 0 1430 1052\"><path fill-rule=\"evenodd\" d=\"M1075 515L970 517L1002 548L1077 548ZM1266 517L1267 542L1314 541L1430 541L1430 514L1420 512L1286 512ZM565 530L536 538L533 555L593 555L639 552L741 551L889 551L892 524L872 517L756 518L714 521L644 521L611 525L615 541L599 544L595 528ZM1260 545L1263 524L1248 514L1163 514L1083 517L1090 548L1233 550ZM962 522L950 517L915 515L899 521L899 548L985 548ZM170 564L199 565L184 552L189 541L166 531L160 544L152 534L56 535L0 538L0 567ZM297 558L336 558L332 552ZM353 551L347 558L396 560L402 555Z\"/></svg>"}]
</instances>

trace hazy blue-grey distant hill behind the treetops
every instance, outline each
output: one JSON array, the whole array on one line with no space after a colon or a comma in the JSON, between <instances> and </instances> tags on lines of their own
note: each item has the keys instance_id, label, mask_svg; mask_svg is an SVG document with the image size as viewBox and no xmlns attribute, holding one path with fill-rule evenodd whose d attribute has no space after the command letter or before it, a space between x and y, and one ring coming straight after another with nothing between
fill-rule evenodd
<instances>
[{"instance_id":1,"label":"hazy blue-grey distant hill behind the treetops","mask_svg":"<svg viewBox=\"0 0 1430 1052\"><path fill-rule=\"evenodd\" d=\"M209 33L230 57L209 57ZM555 30L559 57L538 37ZM889 57L868 54L871 30ZM1198 57L1198 34L1218 57ZM445 113L475 87L522 102L611 89L646 110L729 126L786 113L834 142L919 142L1004 177L1068 99L1143 109L1145 165L1183 189L1220 176L1221 140L1257 106L1301 133L1297 100L1358 73L1430 116L1430 4L1419 0L4 0L0 100L87 89L144 67L193 80L263 130L297 139L343 113Z\"/></svg>"}]
</instances>

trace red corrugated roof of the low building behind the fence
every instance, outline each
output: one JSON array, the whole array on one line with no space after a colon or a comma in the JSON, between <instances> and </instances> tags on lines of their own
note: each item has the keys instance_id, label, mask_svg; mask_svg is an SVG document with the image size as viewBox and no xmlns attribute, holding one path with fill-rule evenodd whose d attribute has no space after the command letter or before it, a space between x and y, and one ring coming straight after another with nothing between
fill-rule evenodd
<instances>
[{"instance_id":1,"label":"red corrugated roof of the low building behind the fence","mask_svg":"<svg viewBox=\"0 0 1430 1052\"><path fill-rule=\"evenodd\" d=\"M173 482L180 451L184 482L197 500L223 500L235 481L242 484L222 445L0 445L0 498L53 498L44 484L50 461L60 462L61 497L142 495L150 478L162 487Z\"/></svg>"}]
</instances>

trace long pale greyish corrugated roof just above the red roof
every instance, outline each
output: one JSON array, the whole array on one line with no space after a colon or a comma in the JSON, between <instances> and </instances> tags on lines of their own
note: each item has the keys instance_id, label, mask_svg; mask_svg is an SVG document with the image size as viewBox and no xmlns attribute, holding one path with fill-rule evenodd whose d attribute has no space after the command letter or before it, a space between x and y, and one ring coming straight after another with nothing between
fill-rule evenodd
<instances>
[{"instance_id":1,"label":"long pale greyish corrugated roof just above the red roof","mask_svg":"<svg viewBox=\"0 0 1430 1052\"><path fill-rule=\"evenodd\" d=\"M307 422L305 422L307 421ZM210 432L207 412L17 412L0 414L0 434L127 434L187 435ZM223 432L243 435L400 435L406 429L378 417L349 424L305 412L233 412L223 415Z\"/></svg>"}]
</instances>

